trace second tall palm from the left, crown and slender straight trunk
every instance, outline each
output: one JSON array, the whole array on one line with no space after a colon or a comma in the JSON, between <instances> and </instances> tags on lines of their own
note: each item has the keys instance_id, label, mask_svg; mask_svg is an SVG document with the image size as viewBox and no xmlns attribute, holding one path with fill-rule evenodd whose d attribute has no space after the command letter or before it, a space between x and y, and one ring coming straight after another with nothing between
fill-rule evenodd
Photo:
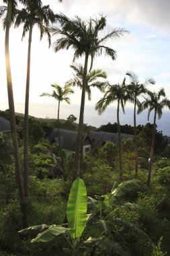
<instances>
[{"instance_id":1,"label":"second tall palm from the left, crown and slender straight trunk","mask_svg":"<svg viewBox=\"0 0 170 256\"><path fill-rule=\"evenodd\" d=\"M30 193L29 175L28 175L28 112L29 112L29 94L30 94L30 61L31 61L31 46L32 46L32 31L34 26L38 26L40 30L40 39L44 34L48 36L50 46L50 32L48 25L54 22L54 13L49 5L42 6L42 1L26 1L26 8L17 11L15 26L24 24L22 39L29 31L28 37L28 63L26 76L26 100L25 100L25 116L24 116L24 189L26 197Z\"/></svg>"}]
</instances>

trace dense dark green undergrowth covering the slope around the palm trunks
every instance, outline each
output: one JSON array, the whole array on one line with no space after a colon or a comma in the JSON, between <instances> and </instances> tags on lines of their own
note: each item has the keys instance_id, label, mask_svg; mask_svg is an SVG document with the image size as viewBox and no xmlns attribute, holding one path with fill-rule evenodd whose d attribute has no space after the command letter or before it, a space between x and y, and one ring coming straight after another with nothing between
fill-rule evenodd
<instances>
[{"instance_id":1,"label":"dense dark green undergrowth covering the slope around the palm trunks","mask_svg":"<svg viewBox=\"0 0 170 256\"><path fill-rule=\"evenodd\" d=\"M7 112L1 111L1 114L6 115ZM23 117L17 117L17 119L20 124L24 122ZM34 137L37 137L36 129L30 129L29 135L28 226L67 223L65 213L71 188L74 155L63 154L67 177L67 181L64 181L62 173L55 166L52 154L49 154L52 152L56 158L59 158L60 150L50 145L46 139L46 127L50 129L55 124L49 123L48 119L46 123L42 123L30 118L31 124L38 127L37 134L40 134L41 130L43 132L38 141L34 140ZM155 140L155 145L162 146L161 152L157 151L159 146L155 148L152 182L148 189L146 187L149 158L147 149L151 147L152 128L153 125L148 123L140 127L141 131L138 132L138 180L134 179L134 140L124 139L122 143L123 180L129 183L125 182L126 186L119 192L116 192L121 183L118 146L108 142L105 146L94 148L84 156L83 180L89 202L87 214L91 218L81 238L78 239L77 246L81 245L81 247L77 249L77 255L91 255L91 253L93 255L103 255L103 253L106 255L164 255L165 251L168 255L170 251L170 152L161 134L161 137L158 136ZM18 134L22 166L24 164L23 129L24 127ZM159 134L156 131L157 133ZM71 253L71 247L62 234L56 238L53 236L54 240L49 243L30 243L41 231L40 227L25 234L17 233L22 230L22 218L15 184L11 139L1 135L0 143L1 255L35 255L35 253L36 255L65 255L67 252ZM167 159L163 159L163 156ZM130 182L133 180L134 183ZM112 200L110 191L112 193L114 191ZM67 224L62 227L67 228ZM83 243L83 241L86 242Z\"/></svg>"}]
</instances>

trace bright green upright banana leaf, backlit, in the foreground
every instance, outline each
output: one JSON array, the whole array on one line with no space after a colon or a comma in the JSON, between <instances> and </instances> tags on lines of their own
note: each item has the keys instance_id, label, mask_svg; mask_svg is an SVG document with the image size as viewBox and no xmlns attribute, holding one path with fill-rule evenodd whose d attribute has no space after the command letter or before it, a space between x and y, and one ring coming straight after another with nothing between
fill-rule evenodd
<instances>
[{"instance_id":1,"label":"bright green upright banana leaf, backlit, in the foreground","mask_svg":"<svg viewBox=\"0 0 170 256\"><path fill-rule=\"evenodd\" d=\"M71 237L78 238L85 228L87 216L87 191L82 179L74 181L67 203L67 220Z\"/></svg>"}]
</instances>

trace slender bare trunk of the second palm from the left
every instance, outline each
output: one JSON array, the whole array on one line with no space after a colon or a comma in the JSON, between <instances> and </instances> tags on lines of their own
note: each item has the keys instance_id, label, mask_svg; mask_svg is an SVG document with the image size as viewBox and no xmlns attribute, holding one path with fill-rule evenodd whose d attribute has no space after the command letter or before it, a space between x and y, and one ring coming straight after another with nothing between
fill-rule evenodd
<instances>
[{"instance_id":1,"label":"slender bare trunk of the second palm from the left","mask_svg":"<svg viewBox=\"0 0 170 256\"><path fill-rule=\"evenodd\" d=\"M30 95L30 62L31 62L31 45L32 45L32 25L30 26L28 38L28 60L27 60L27 79L26 79L26 100L24 116L24 191L26 197L30 194L30 183L28 173L28 112L29 112L29 95Z\"/></svg>"}]
</instances>

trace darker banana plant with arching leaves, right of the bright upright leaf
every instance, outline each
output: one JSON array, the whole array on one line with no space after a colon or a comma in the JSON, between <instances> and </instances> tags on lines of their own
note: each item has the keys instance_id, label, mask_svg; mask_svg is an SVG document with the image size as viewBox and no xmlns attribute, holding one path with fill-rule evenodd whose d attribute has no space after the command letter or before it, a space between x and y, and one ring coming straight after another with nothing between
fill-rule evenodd
<instances>
[{"instance_id":1,"label":"darker banana plant with arching leaves, right of the bright upright leaf","mask_svg":"<svg viewBox=\"0 0 170 256\"><path fill-rule=\"evenodd\" d=\"M114 183L111 192L107 195L96 195L95 198L88 197L88 203L93 208L91 217L93 234L97 239L90 237L86 243L98 247L98 249L107 248L110 255L130 256L129 248L126 247L126 235L124 236L120 232L122 229L136 234L135 237L140 237L141 240L145 241L144 243L151 243L151 239L136 224L122 218L116 218L114 214L120 207L123 207L126 211L144 210L136 203L124 201L124 196L136 189L139 189L137 180L124 181L118 186ZM87 223L88 225L89 223ZM116 226L119 226L120 230Z\"/></svg>"}]
</instances>

